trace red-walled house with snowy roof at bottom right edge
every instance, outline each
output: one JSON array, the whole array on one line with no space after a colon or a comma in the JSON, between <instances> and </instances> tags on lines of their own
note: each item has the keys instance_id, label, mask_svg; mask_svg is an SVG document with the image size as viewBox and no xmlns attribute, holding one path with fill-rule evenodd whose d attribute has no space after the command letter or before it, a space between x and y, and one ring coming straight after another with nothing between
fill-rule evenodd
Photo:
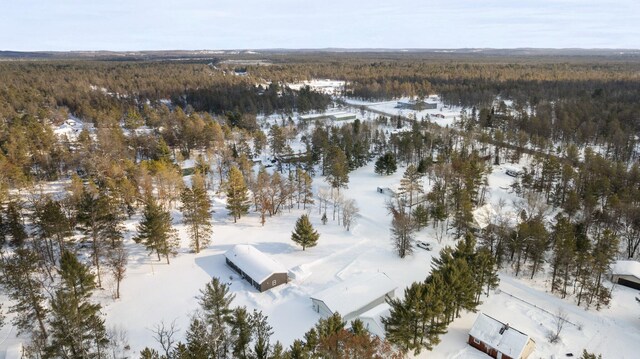
<instances>
[{"instance_id":1,"label":"red-walled house with snowy roof at bottom right edge","mask_svg":"<svg viewBox=\"0 0 640 359\"><path fill-rule=\"evenodd\" d=\"M527 334L480 313L469 331L469 345L494 358L526 359L535 349Z\"/></svg>"}]
</instances>

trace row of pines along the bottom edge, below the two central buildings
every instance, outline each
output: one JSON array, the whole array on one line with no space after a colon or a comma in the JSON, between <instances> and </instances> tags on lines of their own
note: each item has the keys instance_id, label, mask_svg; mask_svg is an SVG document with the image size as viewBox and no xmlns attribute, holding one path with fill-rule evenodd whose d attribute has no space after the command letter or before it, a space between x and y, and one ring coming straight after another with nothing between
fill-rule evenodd
<instances>
[{"instance_id":1,"label":"row of pines along the bottom edge, below the two central buildings","mask_svg":"<svg viewBox=\"0 0 640 359\"><path fill-rule=\"evenodd\" d=\"M290 347L271 340L273 328L262 312L232 307L229 286L213 278L200 291L199 308L192 316L184 341L177 340L173 325L160 324L154 338L162 351L145 348L142 359L301 359L301 358L401 358L388 342L373 337L355 320L346 329L340 314L318 323Z\"/></svg>"}]
</instances>

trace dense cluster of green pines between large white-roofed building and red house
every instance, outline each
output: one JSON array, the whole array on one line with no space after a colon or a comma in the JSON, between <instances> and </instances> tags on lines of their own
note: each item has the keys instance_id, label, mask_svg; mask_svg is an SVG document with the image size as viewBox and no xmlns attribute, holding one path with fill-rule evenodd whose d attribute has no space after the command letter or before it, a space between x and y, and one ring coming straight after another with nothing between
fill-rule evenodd
<instances>
[{"instance_id":1,"label":"dense cluster of green pines between large white-roofed building and red house","mask_svg":"<svg viewBox=\"0 0 640 359\"><path fill-rule=\"evenodd\" d=\"M403 299L389 299L383 318L386 339L403 353L432 350L461 310L476 311L483 293L498 286L495 260L486 248L476 248L465 236L455 248L446 247L433 260L424 282L407 287Z\"/></svg>"}]
</instances>

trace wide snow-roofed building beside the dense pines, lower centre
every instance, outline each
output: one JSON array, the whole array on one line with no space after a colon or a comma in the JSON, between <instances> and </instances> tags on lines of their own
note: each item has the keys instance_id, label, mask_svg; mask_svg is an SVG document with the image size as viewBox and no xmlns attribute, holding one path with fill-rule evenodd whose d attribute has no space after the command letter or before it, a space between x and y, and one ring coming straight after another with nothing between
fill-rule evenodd
<instances>
[{"instance_id":1,"label":"wide snow-roofed building beside the dense pines, lower centre","mask_svg":"<svg viewBox=\"0 0 640 359\"><path fill-rule=\"evenodd\" d=\"M381 272L353 276L311 297L313 310L327 318L340 313L345 322L393 298L396 284Z\"/></svg>"}]
</instances>

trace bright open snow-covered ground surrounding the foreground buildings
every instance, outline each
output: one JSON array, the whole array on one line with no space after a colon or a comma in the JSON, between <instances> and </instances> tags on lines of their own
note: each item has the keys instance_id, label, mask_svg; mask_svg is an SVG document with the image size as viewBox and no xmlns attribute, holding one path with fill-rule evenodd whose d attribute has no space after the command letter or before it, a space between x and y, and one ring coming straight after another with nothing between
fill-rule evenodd
<instances>
[{"instance_id":1,"label":"bright open snow-covered ground surrounding the foreground buildings","mask_svg":"<svg viewBox=\"0 0 640 359\"><path fill-rule=\"evenodd\" d=\"M170 323L175 320L181 328L180 335L184 335L189 315L197 307L198 291L212 276L216 276L230 283L231 291L236 295L234 305L262 310L274 328L273 339L289 345L320 318L312 309L309 297L338 281L359 273L382 271L398 284L396 295L402 295L404 287L428 275L432 256L437 255L444 245L452 243L447 238L442 244L438 243L433 230L427 228L418 234L417 239L431 242L433 252L416 248L415 253L405 259L394 254L389 239L390 218L385 209L387 195L378 193L376 187L392 187L403 171L400 168L392 176L381 177L374 174L373 166L369 165L351 173L349 189L343 193L356 199L360 207L358 222L351 232L346 232L331 220L322 225L316 207L307 211L296 209L269 218L264 227L260 226L256 214L234 224L227 216L224 201L216 198L213 242L200 254L183 249L170 265L166 265L148 257L141 246L128 240L131 259L127 278L122 283L122 299L110 299L109 289L99 294L107 325L126 328L132 350L136 352L144 346L157 346L151 329L160 321ZM489 177L493 188L491 202L513 196L499 188L511 180L496 167ZM325 184L316 178L315 185ZM290 233L295 220L305 212L310 214L321 237L316 247L302 251L290 240ZM174 217L179 223L178 212L174 212ZM331 219L330 208L328 217ZM136 220L134 218L128 223L131 233ZM187 248L184 231L181 233L182 247ZM223 253L235 244L253 244L295 271L297 279L264 293L257 292L224 262ZM479 310L531 335L537 344L533 358L561 357L567 352L578 353L582 348L602 353L605 358L636 357L634 346L640 340L640 305L633 299L634 291L616 287L611 308L599 312L585 311L570 299L561 300L547 293L544 283L514 279L507 274L501 279L500 293L491 293L488 298L483 298L484 304ZM553 316L539 308L551 313L562 308L577 327L567 325L561 342L550 344L546 336L553 326ZM464 313L450 325L449 332L433 352L422 353L419 357L484 357L466 344L467 333L476 315Z\"/></svg>"}]
</instances>

